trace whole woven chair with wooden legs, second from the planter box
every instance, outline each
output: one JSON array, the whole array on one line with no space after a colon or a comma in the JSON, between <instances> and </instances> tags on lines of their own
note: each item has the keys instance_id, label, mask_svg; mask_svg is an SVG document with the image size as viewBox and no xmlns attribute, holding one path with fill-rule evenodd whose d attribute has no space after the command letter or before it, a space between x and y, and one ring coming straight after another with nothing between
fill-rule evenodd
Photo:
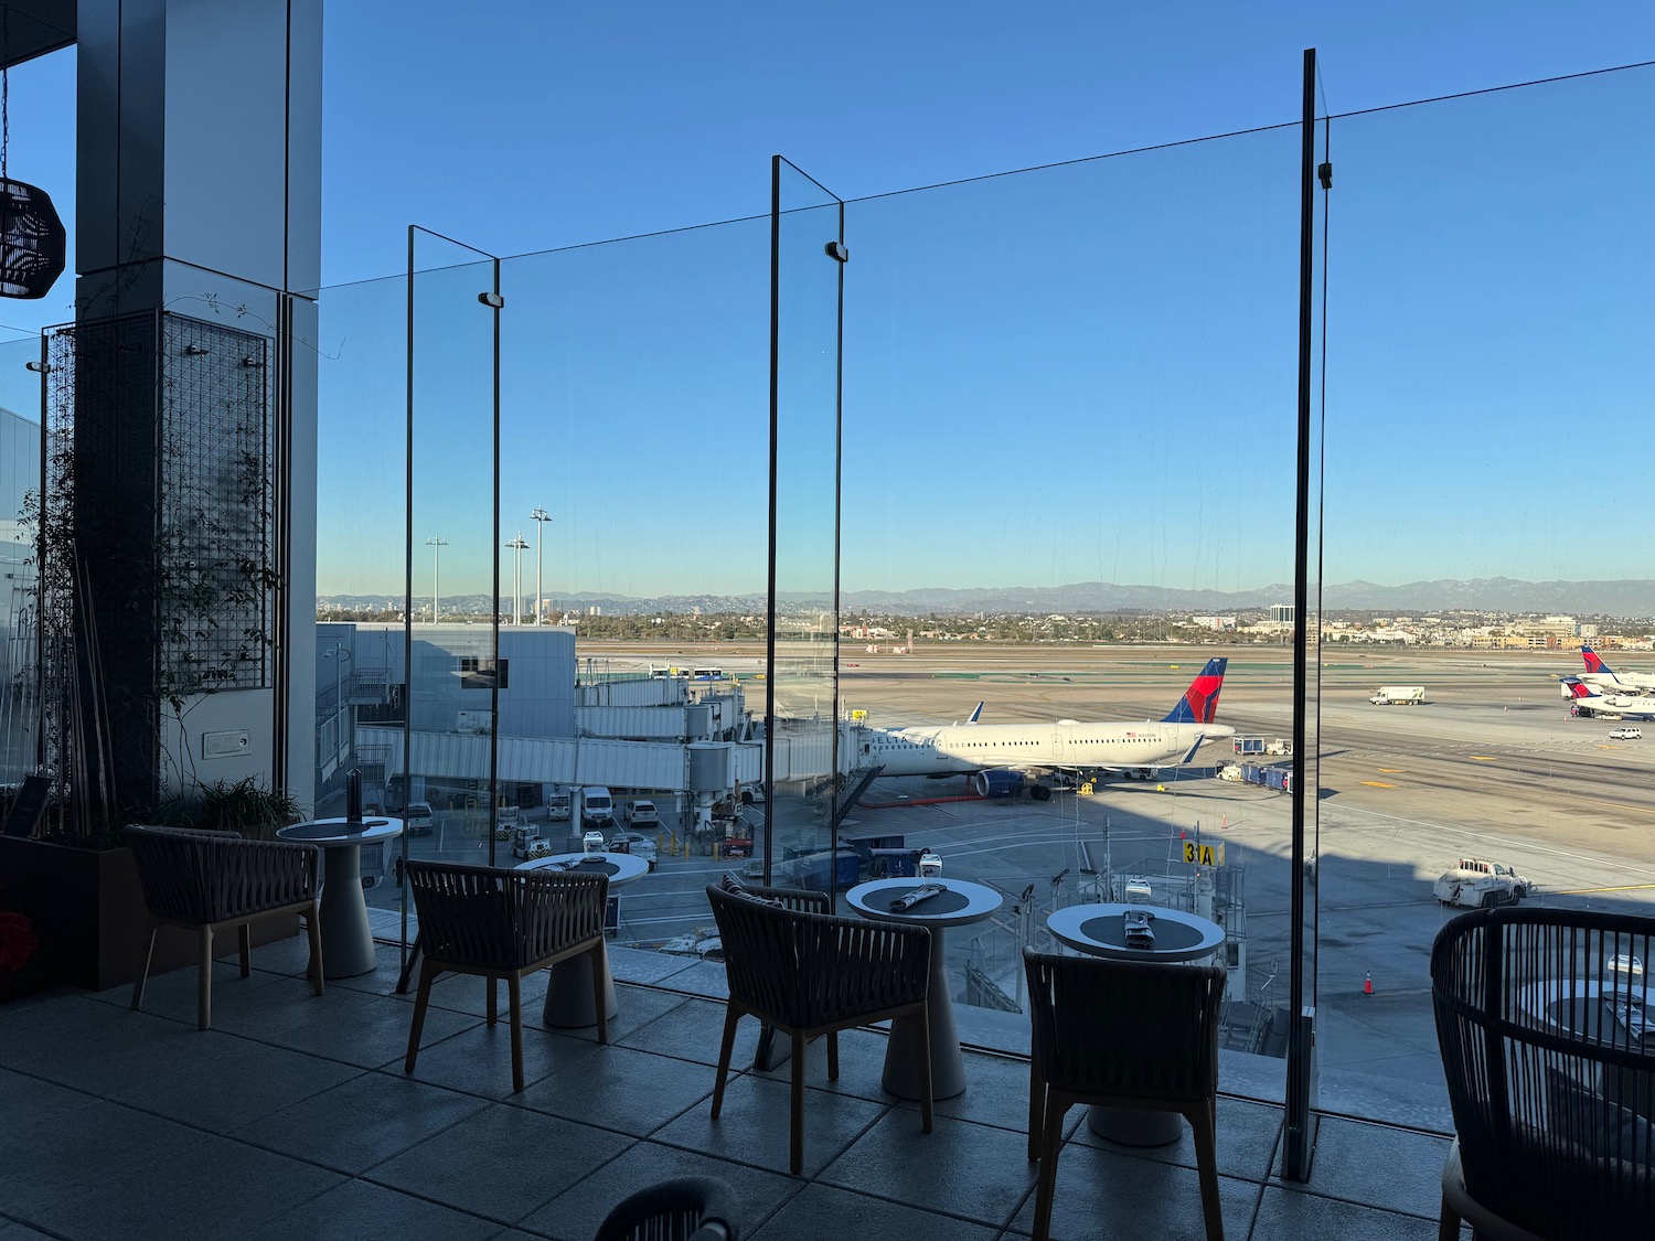
<instances>
[{"instance_id":1,"label":"whole woven chair with wooden legs, second from the planter box","mask_svg":"<svg viewBox=\"0 0 1655 1241\"><path fill-rule=\"evenodd\" d=\"M414 1072L419 1036L440 973L488 980L488 1024L496 1018L495 983L506 980L511 1008L511 1089L523 1089L523 978L569 956L591 953L597 1041L604 1018L604 905L609 875L513 870L458 862L409 862L407 885L419 913L424 958L404 1072Z\"/></svg>"}]
</instances>

